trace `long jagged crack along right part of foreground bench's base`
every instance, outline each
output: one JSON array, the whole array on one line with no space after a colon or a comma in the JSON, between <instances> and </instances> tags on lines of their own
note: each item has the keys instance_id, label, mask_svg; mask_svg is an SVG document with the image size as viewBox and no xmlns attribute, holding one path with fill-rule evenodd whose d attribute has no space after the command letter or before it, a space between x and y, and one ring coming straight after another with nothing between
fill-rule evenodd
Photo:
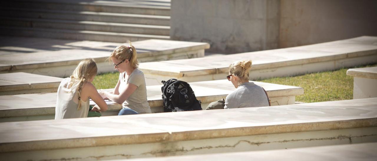
<instances>
[{"instance_id":1,"label":"long jagged crack along right part of foreground bench's base","mask_svg":"<svg viewBox=\"0 0 377 161\"><path fill-rule=\"evenodd\" d=\"M270 144L270 143L287 143L287 142L292 142L292 141L315 141L315 140L334 140L334 139L337 139L337 140L342 140L342 139L348 139L349 140L349 143L352 144L352 138L359 138L359 137L369 137L369 136L375 136L377 134L372 134L372 135L360 135L360 136L352 136L352 137L349 137L349 136L345 136L345 135L339 135L337 137L326 137L326 138L310 138L310 139L292 139L292 140L282 140L282 141L266 141L266 142L251 142L251 141L248 141L248 140L240 140L238 141L236 144L233 144L233 145L219 145L219 146L204 146L204 147L194 147L190 150L187 150L185 149L184 147L180 148L180 149L173 149L173 150L158 150L158 151L151 151L151 152L146 152L146 153L142 153L141 155L147 155L147 154L151 154L151 155L157 155L157 154L160 154L160 153L174 153L174 152L192 152L192 151L195 151L195 150L202 150L202 149L213 149L213 148L223 148L223 147L236 147L238 146L238 144L242 143L242 142L245 142L245 143L248 143L250 145L256 145L256 146L259 146L261 144Z\"/></svg>"}]
</instances>

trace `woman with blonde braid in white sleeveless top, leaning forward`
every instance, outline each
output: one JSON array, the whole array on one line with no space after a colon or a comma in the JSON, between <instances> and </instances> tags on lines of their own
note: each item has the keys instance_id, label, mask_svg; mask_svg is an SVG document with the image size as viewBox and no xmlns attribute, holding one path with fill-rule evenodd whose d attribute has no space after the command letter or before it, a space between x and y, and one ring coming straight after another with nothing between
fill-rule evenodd
<instances>
[{"instance_id":1,"label":"woman with blonde braid in white sleeveless top, leaning forward","mask_svg":"<svg viewBox=\"0 0 377 161\"><path fill-rule=\"evenodd\" d=\"M106 111L107 105L92 84L97 75L97 65L93 59L81 61L72 75L63 79L58 87L55 107L55 120L63 118L87 117L89 98L97 105L92 111Z\"/></svg>"}]
</instances>

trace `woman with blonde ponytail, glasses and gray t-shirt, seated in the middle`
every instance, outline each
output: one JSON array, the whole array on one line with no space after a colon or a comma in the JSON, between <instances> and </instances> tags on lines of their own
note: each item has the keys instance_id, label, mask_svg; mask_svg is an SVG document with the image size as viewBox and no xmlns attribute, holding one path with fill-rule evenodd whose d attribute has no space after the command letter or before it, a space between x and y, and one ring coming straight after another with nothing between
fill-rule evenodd
<instances>
[{"instance_id":1,"label":"woman with blonde ponytail, glasses and gray t-shirt, seated in the middle","mask_svg":"<svg viewBox=\"0 0 377 161\"><path fill-rule=\"evenodd\" d=\"M114 91L100 90L103 98L122 104L118 115L151 113L147 101L147 87L144 73L138 69L138 59L135 47L118 46L109 57L114 69L119 71L119 79Z\"/></svg>"}]
</instances>

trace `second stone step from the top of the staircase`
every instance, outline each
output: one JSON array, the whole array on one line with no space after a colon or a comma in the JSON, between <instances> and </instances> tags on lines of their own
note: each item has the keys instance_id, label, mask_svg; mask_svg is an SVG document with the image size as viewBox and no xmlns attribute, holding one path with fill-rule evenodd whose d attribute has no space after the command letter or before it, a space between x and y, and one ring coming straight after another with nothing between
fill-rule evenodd
<instances>
[{"instance_id":1,"label":"second stone step from the top of the staircase","mask_svg":"<svg viewBox=\"0 0 377 161\"><path fill-rule=\"evenodd\" d=\"M37 9L0 8L0 16L7 18L41 18L55 20L97 21L170 26L170 16L119 14L110 12L52 11Z\"/></svg>"}]
</instances>

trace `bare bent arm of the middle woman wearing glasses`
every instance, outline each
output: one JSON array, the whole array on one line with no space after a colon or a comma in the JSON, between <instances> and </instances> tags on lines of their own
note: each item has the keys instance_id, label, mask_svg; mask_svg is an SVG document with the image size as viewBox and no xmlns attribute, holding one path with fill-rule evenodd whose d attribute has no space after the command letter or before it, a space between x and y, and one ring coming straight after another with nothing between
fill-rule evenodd
<instances>
[{"instance_id":1,"label":"bare bent arm of the middle woman wearing glasses","mask_svg":"<svg viewBox=\"0 0 377 161\"><path fill-rule=\"evenodd\" d=\"M136 85L127 83L126 88L123 91L121 91L120 94L111 94L107 91L101 91L101 92L104 94L104 96L106 96L110 100L112 100L116 103L122 104L124 101L126 101L126 99L133 92L135 92L136 88L138 88Z\"/></svg>"}]
</instances>

